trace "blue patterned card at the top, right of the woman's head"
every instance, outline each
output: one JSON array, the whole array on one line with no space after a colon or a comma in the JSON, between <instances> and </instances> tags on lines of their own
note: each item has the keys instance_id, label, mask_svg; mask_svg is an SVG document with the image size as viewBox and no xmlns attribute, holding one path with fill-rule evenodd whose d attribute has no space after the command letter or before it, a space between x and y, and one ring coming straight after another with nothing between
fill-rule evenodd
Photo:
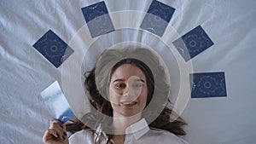
<instances>
[{"instance_id":1,"label":"blue patterned card at the top, right of the woman's head","mask_svg":"<svg viewBox=\"0 0 256 144\"><path fill-rule=\"evenodd\" d=\"M172 7L154 0L140 27L161 37L174 11Z\"/></svg>"}]
</instances>

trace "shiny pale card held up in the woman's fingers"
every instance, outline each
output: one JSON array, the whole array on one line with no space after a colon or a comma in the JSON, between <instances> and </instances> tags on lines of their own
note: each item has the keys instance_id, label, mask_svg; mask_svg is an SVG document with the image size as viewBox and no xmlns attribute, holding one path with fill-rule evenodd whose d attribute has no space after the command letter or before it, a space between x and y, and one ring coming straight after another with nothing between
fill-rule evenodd
<instances>
[{"instance_id":1,"label":"shiny pale card held up in the woman's fingers","mask_svg":"<svg viewBox=\"0 0 256 144\"><path fill-rule=\"evenodd\" d=\"M44 89L41 92L41 96L52 118L65 123L75 116L57 81Z\"/></svg>"}]
</instances>

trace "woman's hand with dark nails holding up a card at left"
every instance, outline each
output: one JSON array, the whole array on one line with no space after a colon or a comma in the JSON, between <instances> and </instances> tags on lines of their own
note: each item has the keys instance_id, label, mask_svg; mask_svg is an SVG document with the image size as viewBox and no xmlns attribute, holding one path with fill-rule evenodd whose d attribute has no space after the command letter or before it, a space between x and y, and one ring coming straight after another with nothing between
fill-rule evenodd
<instances>
[{"instance_id":1,"label":"woman's hand with dark nails holding up a card at left","mask_svg":"<svg viewBox=\"0 0 256 144\"><path fill-rule=\"evenodd\" d=\"M60 121L52 120L49 129L45 131L43 136L45 144L68 144L66 124Z\"/></svg>"}]
</instances>

